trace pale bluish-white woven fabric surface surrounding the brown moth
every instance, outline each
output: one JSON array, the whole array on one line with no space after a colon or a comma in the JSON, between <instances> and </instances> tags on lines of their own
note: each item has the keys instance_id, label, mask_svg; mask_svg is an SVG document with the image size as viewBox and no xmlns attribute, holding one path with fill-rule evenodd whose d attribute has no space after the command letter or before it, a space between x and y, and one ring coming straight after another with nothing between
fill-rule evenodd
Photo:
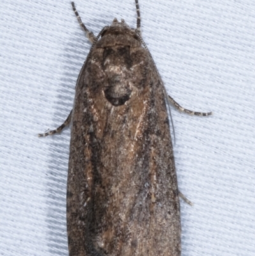
<instances>
[{"instance_id":1,"label":"pale bluish-white woven fabric surface surrounding the brown moth","mask_svg":"<svg viewBox=\"0 0 255 256\"><path fill-rule=\"evenodd\" d=\"M94 34L114 17L136 26L135 1L76 1ZM182 255L255 255L254 1L140 0L142 35L172 108ZM90 44L69 1L0 8L0 255L68 255L69 130L38 139L71 110Z\"/></svg>"}]
</instances>

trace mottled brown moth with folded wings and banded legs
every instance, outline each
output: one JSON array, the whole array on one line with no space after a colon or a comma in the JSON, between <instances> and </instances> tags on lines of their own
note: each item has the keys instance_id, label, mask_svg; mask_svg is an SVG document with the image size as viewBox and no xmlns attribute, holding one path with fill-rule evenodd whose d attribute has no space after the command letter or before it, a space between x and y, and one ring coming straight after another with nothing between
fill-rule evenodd
<instances>
[{"instance_id":1,"label":"mottled brown moth with folded wings and banded legs","mask_svg":"<svg viewBox=\"0 0 255 256\"><path fill-rule=\"evenodd\" d=\"M177 256L180 192L166 90L137 27L114 19L95 37L77 80L67 225L70 256Z\"/></svg>"}]
</instances>

